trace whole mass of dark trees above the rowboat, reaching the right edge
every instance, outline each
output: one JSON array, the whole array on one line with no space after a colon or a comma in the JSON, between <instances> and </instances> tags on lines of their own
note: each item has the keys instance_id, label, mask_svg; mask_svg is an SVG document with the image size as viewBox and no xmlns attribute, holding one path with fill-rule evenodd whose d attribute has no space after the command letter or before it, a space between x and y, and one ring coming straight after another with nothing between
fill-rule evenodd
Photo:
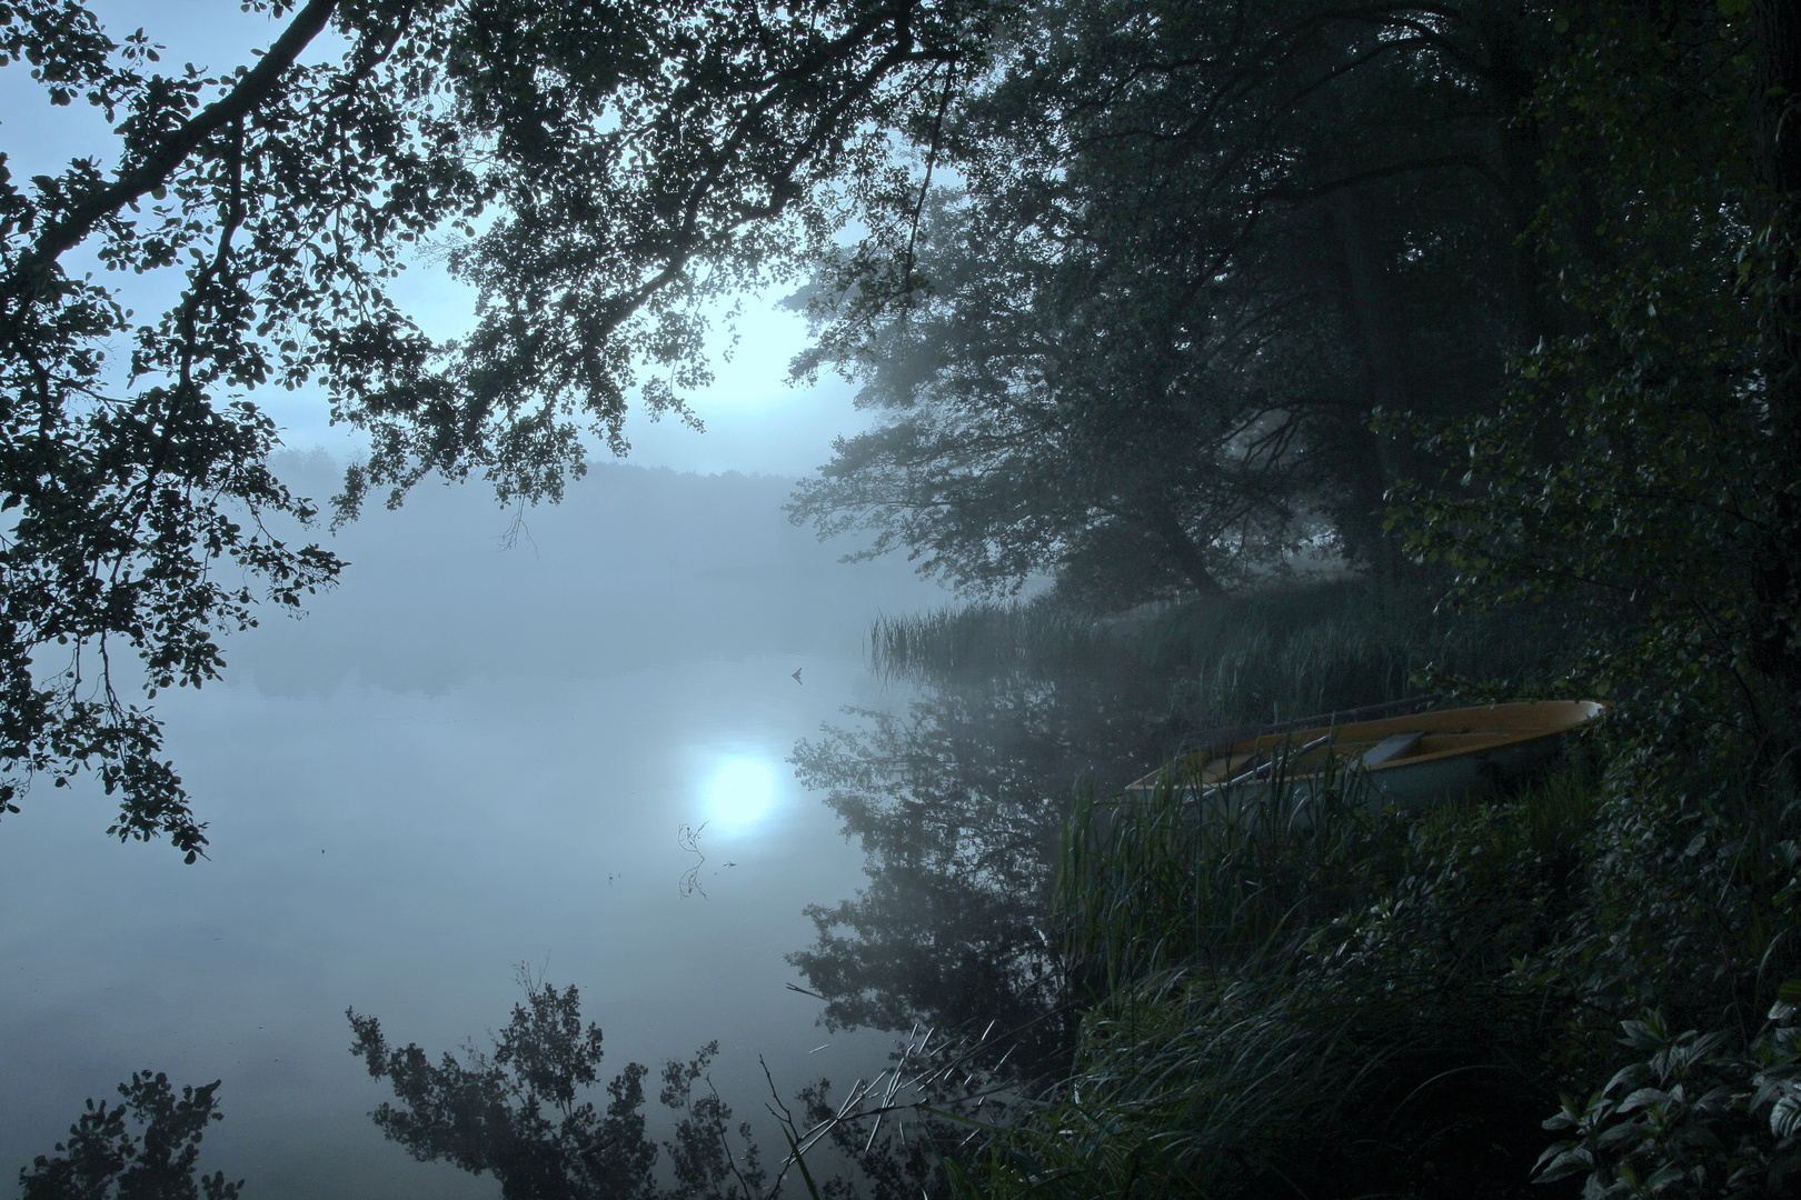
<instances>
[{"instance_id":1,"label":"whole mass of dark trees above the rowboat, reaching the right edge","mask_svg":"<svg viewBox=\"0 0 1801 1200\"><path fill-rule=\"evenodd\" d=\"M1801 9L1043 4L946 101L801 369L796 495L1118 608L1313 547L1570 604L1565 687L1801 730ZM1724 705L1724 707L1722 707Z\"/></svg>"}]
</instances>

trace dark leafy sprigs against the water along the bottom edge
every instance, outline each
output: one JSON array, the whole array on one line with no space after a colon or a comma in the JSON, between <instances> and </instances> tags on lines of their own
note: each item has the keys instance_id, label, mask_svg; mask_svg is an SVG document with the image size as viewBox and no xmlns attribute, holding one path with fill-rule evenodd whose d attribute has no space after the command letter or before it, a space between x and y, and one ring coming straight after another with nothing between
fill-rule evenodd
<instances>
[{"instance_id":1,"label":"dark leafy sprigs against the water along the bottom edge","mask_svg":"<svg viewBox=\"0 0 1801 1200\"><path fill-rule=\"evenodd\" d=\"M580 993L573 984L562 990L546 984L524 966L519 981L526 1002L513 1006L513 1018L495 1036L492 1054L468 1043L463 1060L443 1054L434 1063L414 1043L391 1047L380 1018L346 1013L355 1033L351 1054L394 1090L394 1101L369 1114L376 1126L420 1160L492 1175L502 1200L778 1200L792 1195L783 1187L794 1177L812 1196L942 1196L940 1153L971 1133L942 1110L962 1106L980 1117L998 1117L996 1110L1007 1108L1005 1088L992 1087L991 1072L974 1063L971 1051L980 1049L980 1040L915 1036L888 1070L857 1079L843 1097L832 1094L827 1079L818 1079L801 1088L794 1105L782 1099L774 1074L758 1060L769 1085L765 1112L787 1146L780 1160L765 1166L751 1124L733 1124L731 1106L713 1087L708 1067L719 1043L711 1042L688 1061L672 1060L663 1067L659 1099L677 1121L674 1139L659 1150L643 1114L648 1070L627 1063L605 1087L605 1108L596 1106L602 1033L593 1022L584 1024ZM207 1103L202 1124L213 1112L216 1087L196 1096ZM989 1101L994 1108L983 1112ZM115 1124L119 1121L122 1114ZM841 1162L832 1162L823 1148L836 1150ZM661 1151L668 1151L666 1169L659 1168ZM41 1168L45 1160L38 1162ZM193 1153L186 1153L182 1164L191 1168ZM67 1160L59 1168L52 1164L61 1169L54 1178L43 1169L36 1175L54 1184L68 1175L68 1166ZM834 1166L852 1166L855 1177L819 1175ZM236 1186L214 1195L222 1180L202 1180L207 1200L236 1196ZM191 1184L169 1195L142 1189L130 1195L133 1200L198 1200ZM70 1196L72 1191L40 1189L25 1200Z\"/></svg>"}]
</instances>

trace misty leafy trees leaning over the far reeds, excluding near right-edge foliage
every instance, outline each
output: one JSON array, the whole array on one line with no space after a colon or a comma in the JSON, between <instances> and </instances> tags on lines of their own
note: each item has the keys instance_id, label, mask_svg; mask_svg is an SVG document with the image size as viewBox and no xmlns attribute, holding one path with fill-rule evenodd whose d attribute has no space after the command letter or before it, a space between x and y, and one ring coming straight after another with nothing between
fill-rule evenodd
<instances>
[{"instance_id":1,"label":"misty leafy trees leaning over the far reeds, excluding near right-edge foliage","mask_svg":"<svg viewBox=\"0 0 1801 1200\"><path fill-rule=\"evenodd\" d=\"M1484 408L1554 320L1516 245L1549 56L1486 2L1032 5L949 106L917 243L821 272L803 367L884 419L796 518L1113 603L1378 561L1419 464L1371 414Z\"/></svg>"}]
</instances>

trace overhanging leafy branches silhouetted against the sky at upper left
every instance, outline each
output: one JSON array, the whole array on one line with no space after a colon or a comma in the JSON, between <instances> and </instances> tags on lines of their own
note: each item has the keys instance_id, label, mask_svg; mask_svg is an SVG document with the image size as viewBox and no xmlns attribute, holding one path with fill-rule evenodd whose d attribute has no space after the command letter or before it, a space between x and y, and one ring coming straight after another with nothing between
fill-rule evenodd
<instances>
[{"instance_id":1,"label":"overhanging leafy branches silhouetted against the sky at upper left","mask_svg":"<svg viewBox=\"0 0 1801 1200\"><path fill-rule=\"evenodd\" d=\"M94 768L112 833L189 860L204 826L124 662L146 700L200 685L218 631L342 569L285 531L319 511L270 473L256 389L319 387L369 434L339 518L430 471L557 498L585 439L623 452L634 389L686 414L699 299L899 187L886 131L994 20L983 0L247 9L274 22L252 63L166 70L153 32L81 0L0 5L0 67L113 131L56 175L0 160L0 806ZM459 342L393 295L427 243L479 297ZM166 277L167 308L126 309L115 272Z\"/></svg>"}]
</instances>

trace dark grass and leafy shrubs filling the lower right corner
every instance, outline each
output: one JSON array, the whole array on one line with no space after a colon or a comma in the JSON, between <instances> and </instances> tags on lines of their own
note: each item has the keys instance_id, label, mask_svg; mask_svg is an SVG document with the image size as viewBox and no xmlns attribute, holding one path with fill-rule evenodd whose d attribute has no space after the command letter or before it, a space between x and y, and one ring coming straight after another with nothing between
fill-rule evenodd
<instances>
[{"instance_id":1,"label":"dark grass and leafy shrubs filling the lower right corner","mask_svg":"<svg viewBox=\"0 0 1801 1200\"><path fill-rule=\"evenodd\" d=\"M1630 766L1423 815L1353 793L1082 808L1075 1069L969 1195L1556 1195L1540 1157L1599 1195L1788 1195L1792 802Z\"/></svg>"}]
</instances>

